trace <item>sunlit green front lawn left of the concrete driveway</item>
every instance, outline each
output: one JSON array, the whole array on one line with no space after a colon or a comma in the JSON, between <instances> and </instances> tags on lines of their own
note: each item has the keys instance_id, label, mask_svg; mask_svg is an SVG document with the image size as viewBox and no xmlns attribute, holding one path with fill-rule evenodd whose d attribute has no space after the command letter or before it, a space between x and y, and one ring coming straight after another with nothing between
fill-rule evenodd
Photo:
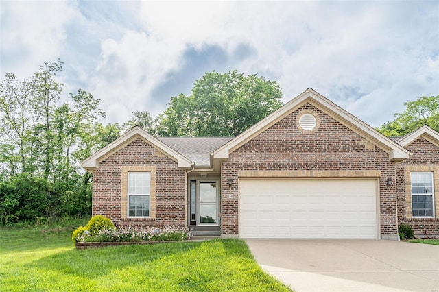
<instances>
[{"instance_id":1,"label":"sunlit green front lawn left of the concrete driveway","mask_svg":"<svg viewBox=\"0 0 439 292\"><path fill-rule=\"evenodd\" d=\"M72 231L0 229L0 291L290 291L238 239L75 250Z\"/></svg>"}]
</instances>

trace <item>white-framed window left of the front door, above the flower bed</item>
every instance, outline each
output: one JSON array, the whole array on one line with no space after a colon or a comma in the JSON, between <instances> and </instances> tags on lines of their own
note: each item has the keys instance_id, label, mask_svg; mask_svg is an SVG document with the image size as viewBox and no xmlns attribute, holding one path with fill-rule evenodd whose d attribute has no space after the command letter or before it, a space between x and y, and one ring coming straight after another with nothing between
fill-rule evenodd
<instances>
[{"instance_id":1,"label":"white-framed window left of the front door, above the flower bed","mask_svg":"<svg viewBox=\"0 0 439 292\"><path fill-rule=\"evenodd\" d=\"M128 173L128 217L150 216L149 172Z\"/></svg>"}]
</instances>

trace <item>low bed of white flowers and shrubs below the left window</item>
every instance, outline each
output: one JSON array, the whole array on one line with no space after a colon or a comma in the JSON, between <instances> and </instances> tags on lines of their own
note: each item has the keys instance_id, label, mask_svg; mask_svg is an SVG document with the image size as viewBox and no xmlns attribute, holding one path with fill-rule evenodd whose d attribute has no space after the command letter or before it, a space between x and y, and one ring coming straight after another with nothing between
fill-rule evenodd
<instances>
[{"instance_id":1,"label":"low bed of white flowers and shrubs below the left window","mask_svg":"<svg viewBox=\"0 0 439 292\"><path fill-rule=\"evenodd\" d=\"M108 245L148 244L169 241L184 241L189 239L189 228L147 228L135 230L133 228L116 229L104 228L96 234L82 232L76 237L76 248L103 247Z\"/></svg>"}]
</instances>

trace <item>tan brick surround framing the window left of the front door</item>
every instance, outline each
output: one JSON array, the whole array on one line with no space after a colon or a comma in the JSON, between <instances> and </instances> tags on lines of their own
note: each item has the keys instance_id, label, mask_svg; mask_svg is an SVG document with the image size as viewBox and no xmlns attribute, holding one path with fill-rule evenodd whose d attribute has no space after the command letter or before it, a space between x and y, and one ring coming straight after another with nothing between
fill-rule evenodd
<instances>
[{"instance_id":1,"label":"tan brick surround framing the window left of the front door","mask_svg":"<svg viewBox=\"0 0 439 292\"><path fill-rule=\"evenodd\" d=\"M150 173L150 216L132 217L128 216L128 172L149 172ZM130 165L121 167L121 219L129 220L151 220L156 219L157 196L156 196L156 167L152 165Z\"/></svg>"}]
</instances>

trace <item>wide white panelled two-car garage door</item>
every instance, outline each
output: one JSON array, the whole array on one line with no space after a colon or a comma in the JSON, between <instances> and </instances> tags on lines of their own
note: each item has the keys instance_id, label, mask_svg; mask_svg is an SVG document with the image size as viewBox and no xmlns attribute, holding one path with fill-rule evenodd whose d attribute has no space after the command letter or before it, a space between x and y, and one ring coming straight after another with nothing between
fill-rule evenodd
<instances>
[{"instance_id":1,"label":"wide white panelled two-car garage door","mask_svg":"<svg viewBox=\"0 0 439 292\"><path fill-rule=\"evenodd\" d=\"M377 181L241 179L239 236L376 239Z\"/></svg>"}]
</instances>

